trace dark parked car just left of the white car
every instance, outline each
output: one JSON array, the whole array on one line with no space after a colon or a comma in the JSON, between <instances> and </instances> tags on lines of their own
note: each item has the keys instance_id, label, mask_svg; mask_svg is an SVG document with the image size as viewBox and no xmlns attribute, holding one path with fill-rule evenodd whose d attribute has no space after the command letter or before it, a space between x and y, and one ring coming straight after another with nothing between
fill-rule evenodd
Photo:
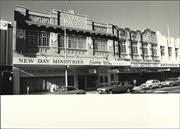
<instances>
[{"instance_id":1,"label":"dark parked car just left of the white car","mask_svg":"<svg viewBox=\"0 0 180 129\"><path fill-rule=\"evenodd\" d=\"M111 86L101 87L97 89L99 94L114 94L114 93L123 93L130 92L134 86L126 82L121 82L121 84L114 84Z\"/></svg>"}]
</instances>

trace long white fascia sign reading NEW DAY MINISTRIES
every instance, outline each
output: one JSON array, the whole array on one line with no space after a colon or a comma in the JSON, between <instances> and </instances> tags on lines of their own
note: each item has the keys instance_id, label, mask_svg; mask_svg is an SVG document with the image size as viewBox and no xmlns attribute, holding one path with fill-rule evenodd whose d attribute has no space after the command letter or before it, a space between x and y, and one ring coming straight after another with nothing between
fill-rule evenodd
<instances>
[{"instance_id":1,"label":"long white fascia sign reading NEW DAY MINISTRIES","mask_svg":"<svg viewBox=\"0 0 180 129\"><path fill-rule=\"evenodd\" d=\"M130 66L128 61L108 61L104 59L73 59L73 58L27 58L13 57L13 64L18 65L96 65L96 66Z\"/></svg>"}]
</instances>

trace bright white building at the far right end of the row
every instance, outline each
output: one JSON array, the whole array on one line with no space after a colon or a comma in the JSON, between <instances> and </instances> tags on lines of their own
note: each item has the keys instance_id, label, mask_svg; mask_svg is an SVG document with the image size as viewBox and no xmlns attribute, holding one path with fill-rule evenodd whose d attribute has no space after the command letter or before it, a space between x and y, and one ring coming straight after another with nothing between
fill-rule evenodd
<instances>
[{"instance_id":1,"label":"bright white building at the far right end of the row","mask_svg":"<svg viewBox=\"0 0 180 129\"><path fill-rule=\"evenodd\" d=\"M157 33L157 41L160 54L161 68L164 68L164 78L179 76L179 40L173 37L166 37L159 31Z\"/></svg>"}]
</instances>

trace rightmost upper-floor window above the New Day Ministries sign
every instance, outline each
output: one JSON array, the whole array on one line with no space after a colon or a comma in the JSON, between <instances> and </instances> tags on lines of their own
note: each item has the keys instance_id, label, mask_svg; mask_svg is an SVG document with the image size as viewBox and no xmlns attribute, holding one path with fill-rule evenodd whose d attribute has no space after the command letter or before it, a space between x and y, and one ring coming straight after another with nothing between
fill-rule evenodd
<instances>
[{"instance_id":1,"label":"rightmost upper-floor window above the New Day Ministries sign","mask_svg":"<svg viewBox=\"0 0 180 129\"><path fill-rule=\"evenodd\" d=\"M107 51L107 40L95 39L94 40L94 50Z\"/></svg>"}]
</instances>

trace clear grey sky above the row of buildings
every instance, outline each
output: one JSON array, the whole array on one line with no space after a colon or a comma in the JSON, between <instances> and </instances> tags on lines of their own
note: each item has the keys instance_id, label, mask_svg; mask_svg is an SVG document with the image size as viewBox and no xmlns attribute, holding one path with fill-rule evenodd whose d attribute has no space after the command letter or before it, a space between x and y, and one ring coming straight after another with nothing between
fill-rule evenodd
<instances>
[{"instance_id":1,"label":"clear grey sky above the row of buildings","mask_svg":"<svg viewBox=\"0 0 180 129\"><path fill-rule=\"evenodd\" d=\"M64 10L67 1L0 0L0 19L13 21L13 10L22 5L30 10ZM150 28L167 36L180 37L180 2L177 1L70 1L67 10L88 15L92 20L111 23L122 28Z\"/></svg>"}]
</instances>

